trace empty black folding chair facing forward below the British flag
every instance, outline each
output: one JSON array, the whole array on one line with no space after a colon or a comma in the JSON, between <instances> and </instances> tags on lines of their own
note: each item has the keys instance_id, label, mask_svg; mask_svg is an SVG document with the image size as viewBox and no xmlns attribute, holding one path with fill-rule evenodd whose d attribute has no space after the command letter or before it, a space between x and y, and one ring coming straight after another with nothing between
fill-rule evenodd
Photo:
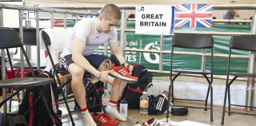
<instances>
[{"instance_id":1,"label":"empty black folding chair facing forward below the British flag","mask_svg":"<svg viewBox=\"0 0 256 126\"><path fill-rule=\"evenodd\" d=\"M175 47L175 48L174 48ZM205 70L205 69L173 69L173 62L174 62L174 49L176 48L182 48L186 49L192 49L198 50L198 49L211 49L211 61L210 61L210 70ZM193 33L176 33L174 34L174 37L172 38L172 48L171 48L171 59L170 59L170 87L169 87L169 94L170 90L172 93L172 103L174 103L174 100L191 100L191 99L178 99L174 98L174 80L181 74L201 74L203 77L206 78L206 81L208 82L208 90L206 94L206 100L193 100L193 101L203 101L205 102L205 107L193 107L193 106L186 106L189 108L204 108L205 111L207 109L210 109L210 121L213 121L213 89L212 89L212 82L213 82L213 62L214 62L214 38L211 35L206 35L206 34L193 34ZM191 53L191 52L190 52ZM177 57L178 58L178 57ZM204 58L204 57L202 57ZM183 59L186 60L186 59ZM191 62L191 64L194 62ZM200 63L196 63L196 65ZM186 68L186 66L184 66ZM172 75L174 73L177 73L173 78ZM210 80L209 77L206 75L210 75ZM207 108L207 100L209 97L210 93L210 108ZM170 95L168 96L169 100L169 107L170 107ZM166 114L166 120L169 118L169 112Z\"/></svg>"}]
</instances>

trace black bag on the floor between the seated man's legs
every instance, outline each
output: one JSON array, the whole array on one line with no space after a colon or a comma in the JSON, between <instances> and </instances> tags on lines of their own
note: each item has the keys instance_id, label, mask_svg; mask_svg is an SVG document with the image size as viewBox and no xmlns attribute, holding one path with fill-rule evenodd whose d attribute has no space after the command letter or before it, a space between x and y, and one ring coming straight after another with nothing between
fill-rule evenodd
<instances>
[{"instance_id":1,"label":"black bag on the floor between the seated man's legs","mask_svg":"<svg viewBox=\"0 0 256 126\"><path fill-rule=\"evenodd\" d=\"M101 106L92 107L95 104L101 104L100 101L102 101L102 94L104 93L104 83L102 81L98 81L95 84L91 84L90 82L90 73L86 73L83 81L84 86L86 87L86 105L89 110L89 112L102 112ZM91 84L91 85L90 85ZM98 100L98 97L96 95L96 91L94 90L93 85L96 86L98 90L98 94L100 97L100 100ZM89 86L89 87L88 87ZM80 109L77 100L74 100L75 108L74 109Z\"/></svg>"}]
</instances>

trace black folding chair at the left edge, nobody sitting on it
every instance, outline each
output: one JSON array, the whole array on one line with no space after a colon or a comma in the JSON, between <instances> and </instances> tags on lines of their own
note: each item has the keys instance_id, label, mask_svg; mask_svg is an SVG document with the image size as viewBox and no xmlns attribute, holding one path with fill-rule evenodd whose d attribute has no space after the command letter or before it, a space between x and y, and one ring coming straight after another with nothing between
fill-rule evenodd
<instances>
[{"instance_id":1,"label":"black folding chair at the left edge, nobody sitting on it","mask_svg":"<svg viewBox=\"0 0 256 126\"><path fill-rule=\"evenodd\" d=\"M22 53L24 54L24 57L26 58L30 71L33 71L30 65L30 61L26 55L25 49L23 48L22 41L20 40L20 37L18 36L18 33L15 30L10 28L0 28L0 42L1 42L0 49L6 49L7 52L8 52L8 49L10 48L20 48L22 50ZM3 104L6 103L7 100L10 100L10 98L18 94L20 91L22 91L22 89L37 87L38 92L40 93L40 96L34 102L34 104L32 104L31 107L24 113L24 115L28 114L30 112L30 109L33 108L34 105L37 104L39 100L42 100L43 104L45 104L46 112L48 116L50 116L52 124L54 125L54 119L50 114L50 110L47 107L46 101L44 100L44 96L43 96L43 93L45 93L47 86L49 86L50 83L53 83L54 79L34 77L34 73L32 74L33 74L33 77L12 78L12 79L0 81L0 88L18 89L16 90L16 92L8 96L5 100L2 100L2 102L0 103L0 108L2 107ZM43 90L39 88L39 86L41 85L46 85Z\"/></svg>"}]
</instances>

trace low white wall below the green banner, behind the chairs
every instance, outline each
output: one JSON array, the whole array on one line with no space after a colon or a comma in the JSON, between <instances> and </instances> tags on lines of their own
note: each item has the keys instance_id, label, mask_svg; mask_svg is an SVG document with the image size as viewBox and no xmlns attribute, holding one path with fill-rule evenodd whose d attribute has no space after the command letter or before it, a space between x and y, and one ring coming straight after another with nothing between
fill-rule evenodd
<instances>
[{"instance_id":1,"label":"low white wall below the green banner, behind the chairs","mask_svg":"<svg viewBox=\"0 0 256 126\"><path fill-rule=\"evenodd\" d=\"M169 89L170 81L166 80L153 80L154 87L151 87L147 91L147 95L156 95L159 91ZM225 94L225 84L213 84L213 100L214 105L222 106ZM183 99L197 99L205 100L208 84L198 82L187 82L187 81L174 81L174 97ZM254 94L254 97L256 94ZM246 82L245 85L231 85L230 86L230 99L231 104L246 104ZM210 104L210 97L208 99ZM254 104L256 101L254 100ZM226 103L227 105L227 103ZM232 107L232 106L231 106Z\"/></svg>"}]
</instances>

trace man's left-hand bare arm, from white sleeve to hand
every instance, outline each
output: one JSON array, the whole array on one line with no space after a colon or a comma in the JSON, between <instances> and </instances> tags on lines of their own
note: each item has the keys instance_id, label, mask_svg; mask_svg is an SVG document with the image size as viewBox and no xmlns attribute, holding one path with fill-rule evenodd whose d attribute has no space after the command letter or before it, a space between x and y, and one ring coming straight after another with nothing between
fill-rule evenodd
<instances>
[{"instance_id":1,"label":"man's left-hand bare arm, from white sleeve to hand","mask_svg":"<svg viewBox=\"0 0 256 126\"><path fill-rule=\"evenodd\" d=\"M74 61L76 65L79 65L89 73L94 74L94 76L98 77L100 81L108 82L112 85L113 82L110 81L110 78L108 77L108 74L111 73L110 71L99 72L92 65L90 65L90 62L87 61L85 57L82 56L82 50L85 48L85 46L86 41L83 41L78 37L74 37L72 61Z\"/></svg>"}]
</instances>

